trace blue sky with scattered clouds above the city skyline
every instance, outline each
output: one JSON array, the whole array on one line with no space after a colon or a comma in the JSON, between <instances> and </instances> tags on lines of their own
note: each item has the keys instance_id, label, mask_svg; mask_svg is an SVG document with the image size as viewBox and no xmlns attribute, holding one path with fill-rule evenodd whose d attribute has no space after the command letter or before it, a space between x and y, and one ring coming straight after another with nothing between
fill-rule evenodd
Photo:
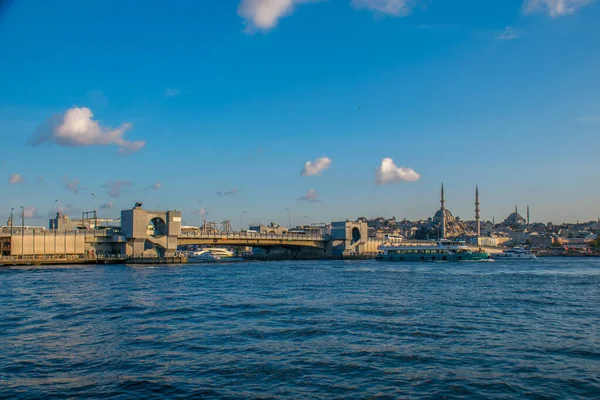
<instances>
[{"instance_id":1,"label":"blue sky with scattered clouds above the city skyline","mask_svg":"<svg viewBox=\"0 0 600 400\"><path fill-rule=\"evenodd\" d=\"M286 207L294 223L418 219L441 182L463 219L476 184L490 220L515 204L535 221L600 214L600 2L2 10L2 223L11 207L45 224L96 200L102 215L142 201L188 224L204 206L235 227L242 211L244 224L287 224ZM301 175L308 161L315 174Z\"/></svg>"}]
</instances>

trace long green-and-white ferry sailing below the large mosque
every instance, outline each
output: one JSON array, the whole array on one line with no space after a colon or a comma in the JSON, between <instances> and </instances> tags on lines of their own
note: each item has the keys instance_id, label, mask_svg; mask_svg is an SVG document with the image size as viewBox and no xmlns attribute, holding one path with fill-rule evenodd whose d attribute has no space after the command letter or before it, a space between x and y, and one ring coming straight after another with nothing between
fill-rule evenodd
<instances>
[{"instance_id":1,"label":"long green-and-white ferry sailing below the large mosque","mask_svg":"<svg viewBox=\"0 0 600 400\"><path fill-rule=\"evenodd\" d=\"M484 261L490 255L485 251L474 251L462 241L439 240L431 243L389 244L379 247L382 254L377 261Z\"/></svg>"}]
</instances>

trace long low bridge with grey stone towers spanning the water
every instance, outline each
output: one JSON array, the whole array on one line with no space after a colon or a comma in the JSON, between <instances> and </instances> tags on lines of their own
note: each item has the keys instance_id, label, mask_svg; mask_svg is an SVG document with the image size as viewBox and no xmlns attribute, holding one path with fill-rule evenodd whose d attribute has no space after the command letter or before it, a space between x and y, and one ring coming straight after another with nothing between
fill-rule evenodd
<instances>
[{"instance_id":1,"label":"long low bridge with grey stone towers spanning the water","mask_svg":"<svg viewBox=\"0 0 600 400\"><path fill-rule=\"evenodd\" d=\"M52 230L10 227L7 232L0 232L0 255L173 257L180 245L252 247L268 253L272 250L295 254L369 252L365 250L368 243L365 222L334 222L327 234L185 231L181 226L181 211L145 210L141 203L122 210L120 220L120 226L98 228L88 219L70 222L68 217L57 214L50 220Z\"/></svg>"}]
</instances>

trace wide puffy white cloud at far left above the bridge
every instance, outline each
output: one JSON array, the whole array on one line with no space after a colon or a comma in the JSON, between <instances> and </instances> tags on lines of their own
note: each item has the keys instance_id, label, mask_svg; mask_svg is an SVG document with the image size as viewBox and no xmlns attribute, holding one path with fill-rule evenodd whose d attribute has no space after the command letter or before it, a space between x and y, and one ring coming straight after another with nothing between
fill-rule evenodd
<instances>
[{"instance_id":1,"label":"wide puffy white cloud at far left above the bridge","mask_svg":"<svg viewBox=\"0 0 600 400\"><path fill-rule=\"evenodd\" d=\"M89 108L71 108L40 126L30 142L33 145L54 142L59 146L73 147L112 144L119 147L121 154L136 152L146 145L143 140L130 141L123 138L125 132L132 127L130 123L111 129L100 126L98 121L92 119L93 116Z\"/></svg>"}]
</instances>

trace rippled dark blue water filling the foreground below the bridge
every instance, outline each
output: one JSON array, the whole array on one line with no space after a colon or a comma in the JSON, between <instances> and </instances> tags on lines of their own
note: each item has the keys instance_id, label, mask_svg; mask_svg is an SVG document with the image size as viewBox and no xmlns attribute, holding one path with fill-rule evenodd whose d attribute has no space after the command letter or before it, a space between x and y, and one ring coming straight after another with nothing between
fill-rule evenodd
<instances>
[{"instance_id":1,"label":"rippled dark blue water filling the foreground below the bridge","mask_svg":"<svg viewBox=\"0 0 600 400\"><path fill-rule=\"evenodd\" d=\"M0 269L0 398L600 398L600 260Z\"/></svg>"}]
</instances>

